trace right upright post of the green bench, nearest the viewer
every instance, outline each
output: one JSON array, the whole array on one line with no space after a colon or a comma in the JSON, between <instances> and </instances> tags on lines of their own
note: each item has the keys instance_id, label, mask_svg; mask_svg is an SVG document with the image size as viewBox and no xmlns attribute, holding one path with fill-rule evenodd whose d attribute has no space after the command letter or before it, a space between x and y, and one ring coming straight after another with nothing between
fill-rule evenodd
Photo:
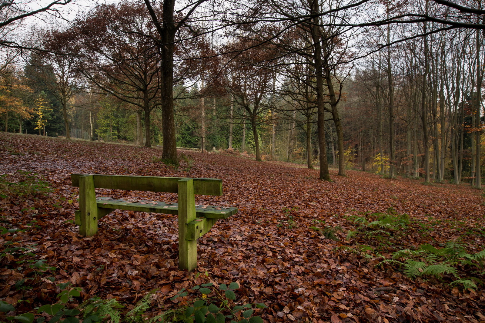
<instances>
[{"instance_id":1,"label":"right upright post of the green bench, nearest the viewer","mask_svg":"<svg viewBox=\"0 0 485 323\"><path fill-rule=\"evenodd\" d=\"M197 267L197 240L186 240L188 223L195 220L194 180L178 181L178 268L189 271Z\"/></svg>"}]
</instances>

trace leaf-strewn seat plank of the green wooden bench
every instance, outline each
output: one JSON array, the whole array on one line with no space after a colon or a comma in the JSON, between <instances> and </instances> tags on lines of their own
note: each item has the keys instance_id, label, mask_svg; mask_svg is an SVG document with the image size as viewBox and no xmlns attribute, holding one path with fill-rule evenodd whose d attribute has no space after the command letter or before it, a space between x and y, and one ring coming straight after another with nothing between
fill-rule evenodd
<instances>
[{"instance_id":1,"label":"leaf-strewn seat plank of the green wooden bench","mask_svg":"<svg viewBox=\"0 0 485 323\"><path fill-rule=\"evenodd\" d=\"M131 201L132 200L132 201ZM161 214L178 214L178 203L174 202L158 202L147 200L113 200L112 198L97 198L97 207L105 209L119 209L129 210L137 212L152 212ZM195 204L195 215L197 217L207 217L210 219L226 219L231 215L235 215L238 212L238 208L235 207L221 207L208 205L204 206ZM218 210L220 209L220 210Z\"/></svg>"}]
</instances>

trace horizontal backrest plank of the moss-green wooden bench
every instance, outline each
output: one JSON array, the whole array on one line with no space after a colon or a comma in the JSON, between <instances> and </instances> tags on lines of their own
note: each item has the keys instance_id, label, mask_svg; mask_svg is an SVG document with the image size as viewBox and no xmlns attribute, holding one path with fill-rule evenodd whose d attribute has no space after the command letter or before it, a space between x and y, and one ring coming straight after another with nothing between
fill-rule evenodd
<instances>
[{"instance_id":1,"label":"horizontal backrest plank of the moss-green wooden bench","mask_svg":"<svg viewBox=\"0 0 485 323\"><path fill-rule=\"evenodd\" d=\"M79 186L79 177L91 174L71 174L73 186ZM178 181L184 177L129 176L93 174L94 187L133 191L178 193ZM222 195L222 180L194 178L194 194Z\"/></svg>"}]
</instances>

